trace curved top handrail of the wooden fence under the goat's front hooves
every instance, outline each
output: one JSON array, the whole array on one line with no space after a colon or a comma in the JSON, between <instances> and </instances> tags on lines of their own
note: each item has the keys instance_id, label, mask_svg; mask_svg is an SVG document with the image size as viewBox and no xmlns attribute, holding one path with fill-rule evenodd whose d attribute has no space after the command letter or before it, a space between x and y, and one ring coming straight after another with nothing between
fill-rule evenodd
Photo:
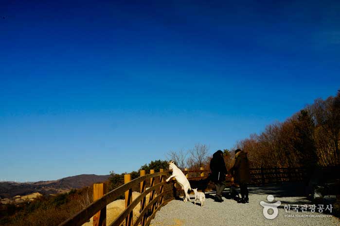
<instances>
[{"instance_id":1,"label":"curved top handrail of the wooden fence under the goat's front hooves","mask_svg":"<svg viewBox=\"0 0 340 226\"><path fill-rule=\"evenodd\" d=\"M89 204L87 207L85 207L83 210L80 210L75 215L73 215L71 218L67 219L66 221L59 224L59 226L82 226L84 223L88 222L88 220L96 214L98 211L102 210L104 207L106 207L109 203L113 202L115 199L117 199L120 195L124 194L125 191L133 188L137 184L141 183L144 180L150 179L150 178L156 178L162 175L167 175L169 172L158 172L154 174L147 174L145 176L135 178L131 180L130 182L123 184L119 186L118 188L108 192L103 197L97 199L93 203Z\"/></svg>"}]
</instances>

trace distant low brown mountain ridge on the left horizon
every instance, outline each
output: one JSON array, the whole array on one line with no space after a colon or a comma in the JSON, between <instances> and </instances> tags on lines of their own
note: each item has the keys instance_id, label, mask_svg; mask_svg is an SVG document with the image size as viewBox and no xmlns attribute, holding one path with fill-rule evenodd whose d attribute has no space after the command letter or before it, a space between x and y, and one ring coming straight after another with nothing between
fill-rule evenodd
<instances>
[{"instance_id":1,"label":"distant low brown mountain ridge on the left horizon","mask_svg":"<svg viewBox=\"0 0 340 226\"><path fill-rule=\"evenodd\" d=\"M0 199L16 195L26 195L38 192L40 194L58 194L70 191L72 188L82 188L93 183L104 182L110 175L81 174L58 180L37 182L0 182Z\"/></svg>"}]
</instances>

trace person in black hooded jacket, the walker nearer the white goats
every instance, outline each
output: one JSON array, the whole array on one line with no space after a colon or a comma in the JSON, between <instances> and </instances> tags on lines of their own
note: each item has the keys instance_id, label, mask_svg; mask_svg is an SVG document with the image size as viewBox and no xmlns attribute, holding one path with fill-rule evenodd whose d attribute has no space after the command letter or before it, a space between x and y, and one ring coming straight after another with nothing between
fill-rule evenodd
<instances>
[{"instance_id":1,"label":"person in black hooded jacket, the walker nearer the white goats","mask_svg":"<svg viewBox=\"0 0 340 226\"><path fill-rule=\"evenodd\" d=\"M227 168L223 159L223 152L218 150L214 153L213 159L210 161L211 175L210 179L215 183L216 201L223 202L222 192L226 187Z\"/></svg>"}]
</instances>

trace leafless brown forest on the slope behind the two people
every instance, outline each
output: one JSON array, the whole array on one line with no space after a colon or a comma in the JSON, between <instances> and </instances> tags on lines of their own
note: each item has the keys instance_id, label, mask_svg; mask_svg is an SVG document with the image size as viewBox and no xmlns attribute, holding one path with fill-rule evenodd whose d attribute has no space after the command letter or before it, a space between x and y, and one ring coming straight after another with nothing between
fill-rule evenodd
<instances>
[{"instance_id":1,"label":"leafless brown forest on the slope behind the two people","mask_svg":"<svg viewBox=\"0 0 340 226\"><path fill-rule=\"evenodd\" d=\"M340 91L335 97L317 98L284 122L268 125L261 134L251 134L231 150L224 149L231 166L233 150L248 152L251 167L332 166L340 163ZM207 145L188 151L170 151L168 159L179 167L197 169L209 165Z\"/></svg>"}]
</instances>

